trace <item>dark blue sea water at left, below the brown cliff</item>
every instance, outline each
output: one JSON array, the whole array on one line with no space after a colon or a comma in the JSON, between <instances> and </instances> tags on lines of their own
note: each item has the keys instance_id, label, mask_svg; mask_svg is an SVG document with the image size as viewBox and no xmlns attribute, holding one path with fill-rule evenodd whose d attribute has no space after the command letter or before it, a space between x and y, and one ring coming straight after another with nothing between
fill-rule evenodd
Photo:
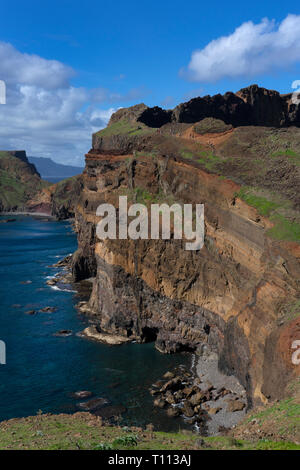
<instances>
[{"instance_id":1,"label":"dark blue sea water at left, below the brown cliff","mask_svg":"<svg viewBox=\"0 0 300 470\"><path fill-rule=\"evenodd\" d=\"M0 217L0 220L7 217ZM110 347L76 336L88 325L78 314L78 293L46 284L58 269L50 267L76 250L68 222L16 216L0 223L0 340L6 343L6 365L0 364L0 421L43 413L73 413L78 390L123 405L124 425L153 423L156 429L185 427L153 408L150 385L189 355L163 355L154 345ZM30 281L30 282L27 282ZM29 310L57 307L53 313ZM73 331L57 337L58 330Z\"/></svg>"}]
</instances>

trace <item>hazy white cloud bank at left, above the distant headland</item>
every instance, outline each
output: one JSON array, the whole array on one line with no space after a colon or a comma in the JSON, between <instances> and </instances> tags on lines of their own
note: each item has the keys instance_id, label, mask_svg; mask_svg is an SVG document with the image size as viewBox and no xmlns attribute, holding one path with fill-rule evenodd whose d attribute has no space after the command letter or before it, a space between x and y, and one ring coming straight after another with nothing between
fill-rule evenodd
<instances>
[{"instance_id":1,"label":"hazy white cloud bank at left, above the distant headland","mask_svg":"<svg viewBox=\"0 0 300 470\"><path fill-rule=\"evenodd\" d=\"M121 95L74 87L74 74L61 62L0 42L0 79L7 88L6 105L0 105L0 149L24 149L27 155L83 164L91 135L106 126L113 103L134 99L140 90ZM109 109L98 107L103 102Z\"/></svg>"}]
</instances>

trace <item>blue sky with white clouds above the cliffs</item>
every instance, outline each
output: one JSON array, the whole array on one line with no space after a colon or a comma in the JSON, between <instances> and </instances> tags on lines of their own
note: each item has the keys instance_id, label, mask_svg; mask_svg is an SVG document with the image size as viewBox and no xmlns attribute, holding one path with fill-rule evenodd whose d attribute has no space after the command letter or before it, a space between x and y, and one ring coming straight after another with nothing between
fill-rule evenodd
<instances>
[{"instance_id":1,"label":"blue sky with white clouds above the cliffs","mask_svg":"<svg viewBox=\"0 0 300 470\"><path fill-rule=\"evenodd\" d=\"M297 13L289 1L2 0L0 148L82 163L120 106L174 107L250 83L290 92L300 16L282 22Z\"/></svg>"}]
</instances>

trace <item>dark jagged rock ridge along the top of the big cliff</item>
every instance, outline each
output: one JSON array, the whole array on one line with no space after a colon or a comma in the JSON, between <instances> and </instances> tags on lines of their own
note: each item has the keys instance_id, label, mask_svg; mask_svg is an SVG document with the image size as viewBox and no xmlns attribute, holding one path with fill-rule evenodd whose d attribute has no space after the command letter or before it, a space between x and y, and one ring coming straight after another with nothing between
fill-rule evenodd
<instances>
[{"instance_id":1,"label":"dark jagged rock ridge along the top of the big cliff","mask_svg":"<svg viewBox=\"0 0 300 470\"><path fill-rule=\"evenodd\" d=\"M299 126L300 108L292 103L292 94L280 95L275 90L251 85L237 93L193 98L174 110L164 110L144 104L119 110L112 118L121 116L137 120L149 127L161 127L168 122L194 123L206 117L222 119L233 126ZM128 116L130 113L130 116Z\"/></svg>"}]
</instances>

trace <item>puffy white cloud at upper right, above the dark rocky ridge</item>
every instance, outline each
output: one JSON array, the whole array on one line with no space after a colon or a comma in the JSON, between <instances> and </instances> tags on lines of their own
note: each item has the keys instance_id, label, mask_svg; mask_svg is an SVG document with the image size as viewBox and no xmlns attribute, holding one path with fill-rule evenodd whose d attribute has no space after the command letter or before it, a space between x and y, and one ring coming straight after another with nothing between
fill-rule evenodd
<instances>
[{"instance_id":1,"label":"puffy white cloud at upper right, above the dark rocky ridge","mask_svg":"<svg viewBox=\"0 0 300 470\"><path fill-rule=\"evenodd\" d=\"M194 51L182 74L193 81L254 76L300 61L300 15L288 15L276 24L267 18L259 24L243 23L234 33Z\"/></svg>"}]
</instances>

